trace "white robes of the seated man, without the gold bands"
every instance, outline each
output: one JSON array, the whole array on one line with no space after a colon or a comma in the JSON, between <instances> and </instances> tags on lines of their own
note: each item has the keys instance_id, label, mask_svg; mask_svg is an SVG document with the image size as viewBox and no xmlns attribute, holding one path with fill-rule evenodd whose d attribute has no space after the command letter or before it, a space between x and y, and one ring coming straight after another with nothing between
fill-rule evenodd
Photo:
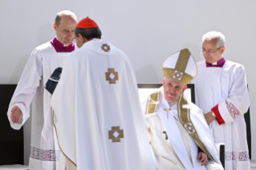
<instances>
[{"instance_id":1,"label":"white robes of the seated man, without the gold bands","mask_svg":"<svg viewBox=\"0 0 256 170\"><path fill-rule=\"evenodd\" d=\"M179 103L181 98L172 107L165 100L164 88L159 89L160 93L157 98L160 101L155 112L144 115L144 122L148 132L148 140L152 145L153 151L156 155L158 170L210 170L223 169L221 162L217 156L214 148L213 137L209 131L209 127L201 113L201 110L189 103L186 107L190 110L190 119L197 132L201 142L209 151L217 163L209 160L209 165L201 166L197 160L198 147L197 144L185 131L179 118L178 111L180 111ZM148 101L142 103L142 110L148 111Z\"/></svg>"}]
</instances>

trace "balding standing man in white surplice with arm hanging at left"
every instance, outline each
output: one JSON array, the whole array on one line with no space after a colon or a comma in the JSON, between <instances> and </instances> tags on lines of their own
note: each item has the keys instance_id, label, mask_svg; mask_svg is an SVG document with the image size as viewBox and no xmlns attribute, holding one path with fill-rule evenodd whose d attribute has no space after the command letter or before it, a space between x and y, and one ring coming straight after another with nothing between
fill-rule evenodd
<instances>
[{"instance_id":1,"label":"balding standing man in white surplice with arm hanging at left","mask_svg":"<svg viewBox=\"0 0 256 170\"><path fill-rule=\"evenodd\" d=\"M20 129L30 117L32 102L30 170L55 170L59 166L60 150L55 138L51 94L44 89L47 80L57 67L63 67L67 55L75 50L77 19L68 10L55 18L56 37L32 51L7 112L10 126Z\"/></svg>"}]
</instances>

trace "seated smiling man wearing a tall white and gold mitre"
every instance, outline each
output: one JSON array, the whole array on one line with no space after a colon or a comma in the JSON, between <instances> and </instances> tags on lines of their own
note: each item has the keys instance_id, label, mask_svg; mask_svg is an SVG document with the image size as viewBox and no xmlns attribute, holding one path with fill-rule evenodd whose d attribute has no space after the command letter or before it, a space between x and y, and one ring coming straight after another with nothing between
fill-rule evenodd
<instances>
[{"instance_id":1,"label":"seated smiling man wearing a tall white and gold mitre","mask_svg":"<svg viewBox=\"0 0 256 170\"><path fill-rule=\"evenodd\" d=\"M163 87L142 103L158 170L223 169L201 110L183 93L197 75L193 56L188 49L177 51L165 59L163 70Z\"/></svg>"}]
</instances>

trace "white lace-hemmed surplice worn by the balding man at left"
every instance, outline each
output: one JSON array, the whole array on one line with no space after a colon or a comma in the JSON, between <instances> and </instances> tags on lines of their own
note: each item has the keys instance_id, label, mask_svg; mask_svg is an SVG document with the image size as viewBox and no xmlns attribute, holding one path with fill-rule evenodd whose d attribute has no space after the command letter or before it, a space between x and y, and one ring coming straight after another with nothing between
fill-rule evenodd
<instances>
[{"instance_id":1,"label":"white lace-hemmed surplice worn by the balding man at left","mask_svg":"<svg viewBox=\"0 0 256 170\"><path fill-rule=\"evenodd\" d=\"M56 166L59 166L60 150L52 123L51 94L44 87L53 71L57 67L63 67L67 55L69 53L57 53L51 42L36 47L26 63L10 101L7 112L9 120L14 106L18 106L22 111L19 123L12 123L10 120L10 126L18 130L30 117L30 103L33 99L30 170L55 170Z\"/></svg>"}]
</instances>

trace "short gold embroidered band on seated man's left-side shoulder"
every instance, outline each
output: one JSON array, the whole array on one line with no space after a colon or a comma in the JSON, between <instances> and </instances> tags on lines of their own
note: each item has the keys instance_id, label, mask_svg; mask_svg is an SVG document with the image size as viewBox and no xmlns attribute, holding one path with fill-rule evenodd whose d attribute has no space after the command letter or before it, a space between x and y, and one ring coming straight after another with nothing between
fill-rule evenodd
<instances>
[{"instance_id":1,"label":"short gold embroidered band on seated man's left-side shoulder","mask_svg":"<svg viewBox=\"0 0 256 170\"><path fill-rule=\"evenodd\" d=\"M158 104L160 102L161 90L154 91L148 95L147 107L145 114L156 112Z\"/></svg>"}]
</instances>

